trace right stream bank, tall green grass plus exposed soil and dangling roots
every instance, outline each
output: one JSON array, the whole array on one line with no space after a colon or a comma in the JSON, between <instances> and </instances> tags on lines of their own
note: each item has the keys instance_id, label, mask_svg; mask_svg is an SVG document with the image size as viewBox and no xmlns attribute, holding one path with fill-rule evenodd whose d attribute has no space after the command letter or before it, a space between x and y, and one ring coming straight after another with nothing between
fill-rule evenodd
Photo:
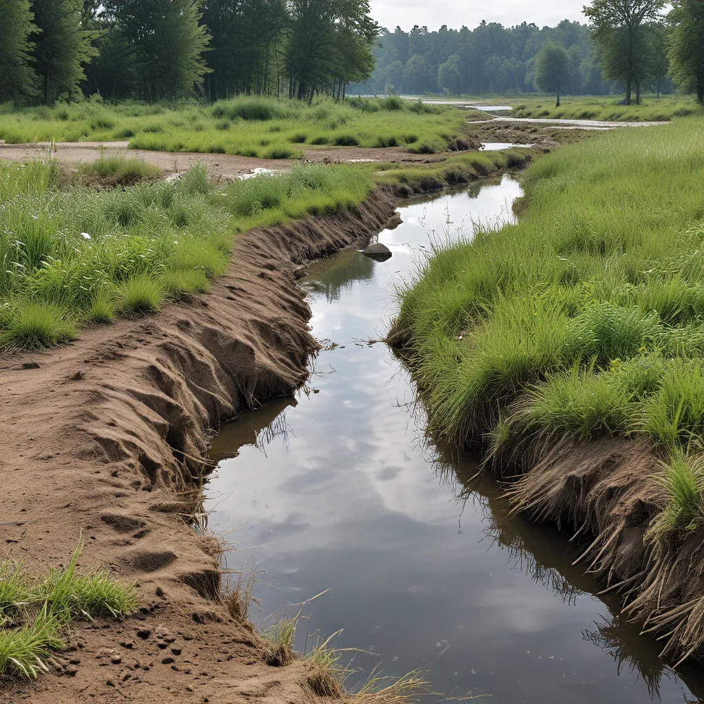
<instances>
[{"instance_id":1,"label":"right stream bank, tall green grass plus exposed soil and dangling roots","mask_svg":"<svg viewBox=\"0 0 704 704\"><path fill-rule=\"evenodd\" d=\"M431 431L591 533L585 568L674 660L704 643L702 163L693 119L541 159L522 220L434 252L390 335Z\"/></svg>"}]
</instances>

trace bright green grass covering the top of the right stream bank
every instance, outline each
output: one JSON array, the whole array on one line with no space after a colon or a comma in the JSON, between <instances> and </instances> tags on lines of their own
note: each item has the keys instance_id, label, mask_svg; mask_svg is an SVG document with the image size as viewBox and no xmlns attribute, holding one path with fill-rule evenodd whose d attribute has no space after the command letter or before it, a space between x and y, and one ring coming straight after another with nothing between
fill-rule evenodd
<instances>
[{"instance_id":1,"label":"bright green grass covering the top of the right stream bank","mask_svg":"<svg viewBox=\"0 0 704 704\"><path fill-rule=\"evenodd\" d=\"M527 170L520 222L435 251L394 329L432 429L512 454L648 439L650 536L703 524L703 170L697 118L600 134Z\"/></svg>"}]
</instances>

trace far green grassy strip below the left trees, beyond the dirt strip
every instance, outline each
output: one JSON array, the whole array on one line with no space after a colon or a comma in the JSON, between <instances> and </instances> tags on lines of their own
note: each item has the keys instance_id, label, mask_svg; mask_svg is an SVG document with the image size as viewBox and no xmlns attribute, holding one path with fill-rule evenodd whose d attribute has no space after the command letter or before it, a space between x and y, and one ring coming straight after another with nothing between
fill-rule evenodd
<instances>
[{"instance_id":1,"label":"far green grassy strip below the left trees, beyond the dirt strip","mask_svg":"<svg viewBox=\"0 0 704 704\"><path fill-rule=\"evenodd\" d=\"M344 104L240 97L214 105L108 105L87 101L54 108L0 106L0 139L28 142L128 140L134 149L298 158L303 144L401 146L434 153L463 146L466 113L395 97ZM458 144L458 140L460 140Z\"/></svg>"}]
</instances>

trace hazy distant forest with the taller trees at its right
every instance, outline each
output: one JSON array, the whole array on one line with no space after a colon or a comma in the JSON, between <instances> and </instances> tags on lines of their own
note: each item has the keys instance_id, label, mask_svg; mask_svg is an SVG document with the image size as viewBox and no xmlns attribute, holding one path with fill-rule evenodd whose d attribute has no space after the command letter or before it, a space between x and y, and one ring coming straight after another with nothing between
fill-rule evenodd
<instances>
[{"instance_id":1,"label":"hazy distant forest with the taller trees at its right","mask_svg":"<svg viewBox=\"0 0 704 704\"><path fill-rule=\"evenodd\" d=\"M674 0L667 15L665 6L662 0L594 0L584 8L589 23L382 30L375 70L354 89L573 95L622 89L630 104L643 90L677 87L703 101L704 0Z\"/></svg>"}]
</instances>

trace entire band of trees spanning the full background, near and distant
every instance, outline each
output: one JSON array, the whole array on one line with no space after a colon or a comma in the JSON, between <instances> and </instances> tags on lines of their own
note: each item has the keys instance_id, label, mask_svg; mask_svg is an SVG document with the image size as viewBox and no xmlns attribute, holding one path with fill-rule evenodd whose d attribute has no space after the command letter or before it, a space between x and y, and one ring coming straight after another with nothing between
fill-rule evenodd
<instances>
[{"instance_id":1,"label":"entire band of trees spanning the full background, near and distant","mask_svg":"<svg viewBox=\"0 0 704 704\"><path fill-rule=\"evenodd\" d=\"M704 0L593 0L589 23L382 30L369 0L0 0L0 102L356 92L704 101Z\"/></svg>"}]
</instances>

